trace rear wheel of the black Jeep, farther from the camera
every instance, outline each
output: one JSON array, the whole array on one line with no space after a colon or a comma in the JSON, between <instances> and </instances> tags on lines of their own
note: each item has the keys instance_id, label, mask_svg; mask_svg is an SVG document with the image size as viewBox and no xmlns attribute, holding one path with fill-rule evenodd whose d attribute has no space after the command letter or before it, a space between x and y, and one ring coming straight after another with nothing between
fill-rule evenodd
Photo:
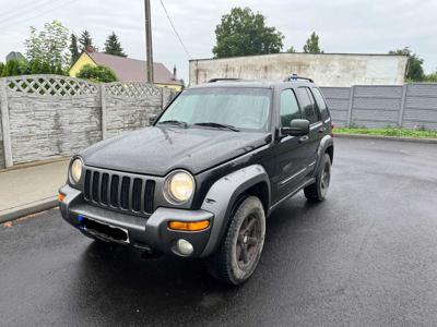
<instances>
[{"instance_id":1,"label":"rear wheel of the black Jeep, farther from the camera","mask_svg":"<svg viewBox=\"0 0 437 327\"><path fill-rule=\"evenodd\" d=\"M316 175L316 182L304 189L306 198L311 202L322 202L328 194L331 181L331 158L328 154L321 159L319 171Z\"/></svg>"}]
</instances>

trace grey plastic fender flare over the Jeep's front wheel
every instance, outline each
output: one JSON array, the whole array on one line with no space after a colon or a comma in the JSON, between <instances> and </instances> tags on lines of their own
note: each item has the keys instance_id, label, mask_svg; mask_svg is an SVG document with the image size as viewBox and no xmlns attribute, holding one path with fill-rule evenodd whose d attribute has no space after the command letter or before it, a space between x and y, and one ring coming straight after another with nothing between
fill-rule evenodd
<instances>
[{"instance_id":1,"label":"grey plastic fender flare over the Jeep's front wheel","mask_svg":"<svg viewBox=\"0 0 437 327\"><path fill-rule=\"evenodd\" d=\"M215 181L203 199L201 209L213 213L214 221L211 228L210 240L202 257L209 256L218 246L228 225L235 202L245 191L251 186L265 182L268 185L268 206L270 207L271 190L270 180L265 169L261 165L252 165L226 174ZM265 213L265 216L268 213Z\"/></svg>"}]
</instances>

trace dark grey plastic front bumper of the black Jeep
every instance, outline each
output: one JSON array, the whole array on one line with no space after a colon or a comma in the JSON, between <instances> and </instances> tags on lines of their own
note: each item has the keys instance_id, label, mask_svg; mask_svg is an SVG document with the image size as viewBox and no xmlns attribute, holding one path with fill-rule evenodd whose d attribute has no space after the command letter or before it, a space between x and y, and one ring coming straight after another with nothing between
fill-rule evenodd
<instances>
[{"instance_id":1,"label":"dark grey plastic front bumper of the black Jeep","mask_svg":"<svg viewBox=\"0 0 437 327\"><path fill-rule=\"evenodd\" d=\"M185 239L194 249L190 256L200 257L209 242L214 223L214 215L202 209L185 210L160 207L149 218L144 218L93 206L83 199L81 191L69 185L64 185L59 192L64 195L63 201L59 203L59 208L63 219L70 225L86 233L81 225L82 217L85 217L107 226L121 228L129 233L129 244L140 250L151 249L156 252L178 254L175 251L176 241ZM168 229L169 220L210 220L210 226L194 232L175 231ZM108 239L108 241L110 240Z\"/></svg>"}]
</instances>

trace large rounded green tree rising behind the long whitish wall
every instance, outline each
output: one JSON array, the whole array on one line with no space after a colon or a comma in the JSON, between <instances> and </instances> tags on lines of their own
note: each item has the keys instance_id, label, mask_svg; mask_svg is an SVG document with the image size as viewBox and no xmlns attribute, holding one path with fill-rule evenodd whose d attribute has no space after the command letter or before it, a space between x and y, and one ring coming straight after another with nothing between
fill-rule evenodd
<instances>
[{"instance_id":1,"label":"large rounded green tree rising behind the long whitish wall","mask_svg":"<svg viewBox=\"0 0 437 327\"><path fill-rule=\"evenodd\" d=\"M265 26L265 17L249 8L233 8L215 28L215 58L277 53L284 36L275 27Z\"/></svg>"}]
</instances>

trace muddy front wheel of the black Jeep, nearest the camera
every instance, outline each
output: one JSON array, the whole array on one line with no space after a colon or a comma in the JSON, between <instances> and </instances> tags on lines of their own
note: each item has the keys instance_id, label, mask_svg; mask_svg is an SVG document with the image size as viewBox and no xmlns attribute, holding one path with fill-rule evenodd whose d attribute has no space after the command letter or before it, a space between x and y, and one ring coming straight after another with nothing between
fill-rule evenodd
<instances>
[{"instance_id":1,"label":"muddy front wheel of the black Jeep, nearest the camera","mask_svg":"<svg viewBox=\"0 0 437 327\"><path fill-rule=\"evenodd\" d=\"M240 284L257 268L264 244L265 215L256 196L241 202L231 217L222 243L206 259L210 274L224 282Z\"/></svg>"}]
</instances>

